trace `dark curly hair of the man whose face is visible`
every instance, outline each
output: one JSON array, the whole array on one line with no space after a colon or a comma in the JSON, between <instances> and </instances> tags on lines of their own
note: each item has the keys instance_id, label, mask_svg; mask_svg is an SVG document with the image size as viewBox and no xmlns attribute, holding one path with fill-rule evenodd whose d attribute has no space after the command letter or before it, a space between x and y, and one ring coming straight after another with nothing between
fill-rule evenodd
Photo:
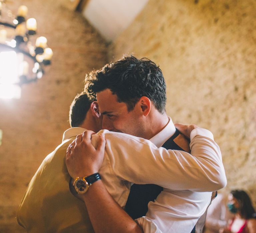
<instances>
[{"instance_id":1,"label":"dark curly hair of the man whose face is visible","mask_svg":"<svg viewBox=\"0 0 256 233\"><path fill-rule=\"evenodd\" d=\"M105 65L85 79L85 91L95 96L97 92L110 89L132 111L142 96L148 97L160 112L165 112L166 84L159 66L148 58L134 56ZM86 90L87 89L87 90Z\"/></svg>"}]
</instances>

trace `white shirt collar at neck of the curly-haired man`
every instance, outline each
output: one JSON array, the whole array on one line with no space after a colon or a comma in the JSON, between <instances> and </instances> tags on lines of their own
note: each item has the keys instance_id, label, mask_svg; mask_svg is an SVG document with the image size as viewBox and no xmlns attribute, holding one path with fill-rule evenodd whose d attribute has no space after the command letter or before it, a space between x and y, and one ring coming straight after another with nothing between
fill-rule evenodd
<instances>
[{"instance_id":1,"label":"white shirt collar at neck of the curly-haired man","mask_svg":"<svg viewBox=\"0 0 256 233\"><path fill-rule=\"evenodd\" d=\"M176 131L176 128L172 122L171 117L169 117L168 124L155 136L150 138L149 140L153 142L157 147L162 146Z\"/></svg>"}]
</instances>

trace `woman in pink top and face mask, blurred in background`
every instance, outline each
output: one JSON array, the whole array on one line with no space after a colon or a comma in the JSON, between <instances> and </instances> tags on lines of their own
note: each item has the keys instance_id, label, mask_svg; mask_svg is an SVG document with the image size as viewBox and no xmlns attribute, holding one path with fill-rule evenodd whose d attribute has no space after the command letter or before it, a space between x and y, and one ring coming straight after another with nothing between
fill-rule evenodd
<instances>
[{"instance_id":1,"label":"woman in pink top and face mask, blurred in background","mask_svg":"<svg viewBox=\"0 0 256 233\"><path fill-rule=\"evenodd\" d=\"M228 227L220 229L219 233L256 233L255 209L244 190L232 190L227 206L235 216L230 219Z\"/></svg>"}]
</instances>

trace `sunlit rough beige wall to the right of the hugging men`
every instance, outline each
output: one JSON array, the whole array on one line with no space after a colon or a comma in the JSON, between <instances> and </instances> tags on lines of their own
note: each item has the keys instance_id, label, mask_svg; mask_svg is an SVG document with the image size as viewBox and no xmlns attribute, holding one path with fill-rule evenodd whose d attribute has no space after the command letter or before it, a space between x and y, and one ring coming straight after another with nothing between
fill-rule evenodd
<instances>
[{"instance_id":1,"label":"sunlit rough beige wall to the right of the hugging men","mask_svg":"<svg viewBox=\"0 0 256 233\"><path fill-rule=\"evenodd\" d=\"M228 189L256 202L255 0L150 0L111 45L160 65L174 122L210 129L220 145Z\"/></svg>"}]
</instances>

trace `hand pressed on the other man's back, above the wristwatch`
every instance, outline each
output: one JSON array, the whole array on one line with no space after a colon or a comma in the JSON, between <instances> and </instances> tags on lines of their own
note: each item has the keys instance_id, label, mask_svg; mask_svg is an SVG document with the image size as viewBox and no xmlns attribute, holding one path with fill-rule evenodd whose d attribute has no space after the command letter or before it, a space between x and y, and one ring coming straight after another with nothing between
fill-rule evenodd
<instances>
[{"instance_id":1,"label":"hand pressed on the other man's back, above the wristwatch","mask_svg":"<svg viewBox=\"0 0 256 233\"><path fill-rule=\"evenodd\" d=\"M77 135L76 139L68 146L66 152L66 165L70 176L84 177L99 171L105 152L105 137L98 137L95 148L91 142L93 131L87 130Z\"/></svg>"}]
</instances>

